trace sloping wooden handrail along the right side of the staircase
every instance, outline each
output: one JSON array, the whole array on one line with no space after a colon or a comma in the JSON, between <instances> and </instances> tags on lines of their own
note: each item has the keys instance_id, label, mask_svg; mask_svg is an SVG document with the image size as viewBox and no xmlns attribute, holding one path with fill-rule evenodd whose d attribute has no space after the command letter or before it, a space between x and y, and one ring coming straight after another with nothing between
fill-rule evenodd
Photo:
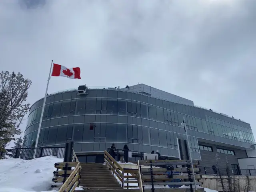
<instances>
[{"instance_id":1,"label":"sloping wooden handrail along the right side of the staircase","mask_svg":"<svg viewBox=\"0 0 256 192\"><path fill-rule=\"evenodd\" d=\"M106 165L110 167L113 174L115 174L118 177L118 179L122 182L122 187L124 187L124 169L106 150L104 151L104 158L106 160Z\"/></svg>"}]
</instances>

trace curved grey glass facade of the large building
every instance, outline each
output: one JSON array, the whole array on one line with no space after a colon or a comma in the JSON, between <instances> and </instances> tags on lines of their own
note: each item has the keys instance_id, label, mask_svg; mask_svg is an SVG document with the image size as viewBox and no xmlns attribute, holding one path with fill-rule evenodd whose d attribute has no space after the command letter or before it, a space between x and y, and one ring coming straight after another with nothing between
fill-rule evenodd
<instances>
[{"instance_id":1,"label":"curved grey glass facade of the large building","mask_svg":"<svg viewBox=\"0 0 256 192\"><path fill-rule=\"evenodd\" d=\"M250 148L255 144L250 124L202 108L152 98L124 90L89 89L49 95L38 146L64 146L74 140L76 152L100 152L115 143L130 150L178 157L176 138L185 115L192 157L200 160L198 139ZM34 147L43 99L30 108L24 147Z\"/></svg>"}]
</instances>

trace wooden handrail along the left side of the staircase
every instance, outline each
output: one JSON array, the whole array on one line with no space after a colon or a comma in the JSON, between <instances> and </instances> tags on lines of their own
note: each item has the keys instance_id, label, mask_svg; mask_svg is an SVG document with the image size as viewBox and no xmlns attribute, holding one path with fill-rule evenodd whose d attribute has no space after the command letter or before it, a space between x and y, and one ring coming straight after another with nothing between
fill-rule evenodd
<instances>
[{"instance_id":1,"label":"wooden handrail along the left side of the staircase","mask_svg":"<svg viewBox=\"0 0 256 192\"><path fill-rule=\"evenodd\" d=\"M77 181L79 179L79 172L80 172L80 163L76 165L75 169L72 170L72 173L70 176L68 176L68 179L64 182L64 184L61 186L59 192L69 191L71 188L71 191L74 191L74 186L77 185Z\"/></svg>"}]
</instances>

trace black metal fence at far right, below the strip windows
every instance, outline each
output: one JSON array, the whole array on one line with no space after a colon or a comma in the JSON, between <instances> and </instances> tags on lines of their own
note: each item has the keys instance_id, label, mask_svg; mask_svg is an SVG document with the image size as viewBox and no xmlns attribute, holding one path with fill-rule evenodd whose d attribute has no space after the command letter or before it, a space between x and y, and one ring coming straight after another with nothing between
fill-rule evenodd
<instances>
[{"instance_id":1,"label":"black metal fence at far right, below the strip windows","mask_svg":"<svg viewBox=\"0 0 256 192\"><path fill-rule=\"evenodd\" d=\"M256 169L232 169L228 171L226 168L216 168L213 169L212 167L201 167L200 168L201 174L205 175L217 175L221 174L223 176L231 175L231 176L236 176L236 175L250 175L250 176L256 176Z\"/></svg>"}]
</instances>

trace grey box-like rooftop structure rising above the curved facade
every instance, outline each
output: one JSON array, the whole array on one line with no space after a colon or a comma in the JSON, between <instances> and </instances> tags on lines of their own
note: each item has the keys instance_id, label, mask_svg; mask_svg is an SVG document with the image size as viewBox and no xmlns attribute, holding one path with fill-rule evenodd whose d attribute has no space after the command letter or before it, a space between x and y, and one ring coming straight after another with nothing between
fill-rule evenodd
<instances>
[{"instance_id":1,"label":"grey box-like rooftop structure rising above the curved facade","mask_svg":"<svg viewBox=\"0 0 256 192\"><path fill-rule=\"evenodd\" d=\"M168 101L178 102L181 104L191 105L194 106L194 102L180 96L162 91L160 89L145 85L145 84L138 84L130 86L129 88L122 88L124 90L130 90L132 92L147 94L149 96L160 98Z\"/></svg>"}]
</instances>

